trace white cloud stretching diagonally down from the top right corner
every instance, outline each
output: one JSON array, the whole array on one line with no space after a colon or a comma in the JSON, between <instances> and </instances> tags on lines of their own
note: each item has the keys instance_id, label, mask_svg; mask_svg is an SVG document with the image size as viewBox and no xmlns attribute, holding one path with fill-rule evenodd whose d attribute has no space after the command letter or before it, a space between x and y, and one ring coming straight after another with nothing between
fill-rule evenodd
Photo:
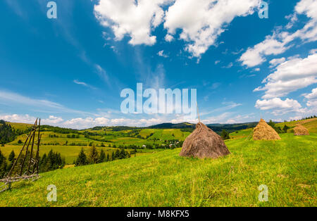
<instances>
[{"instance_id":1,"label":"white cloud stretching diagonally down from the top right corner","mask_svg":"<svg viewBox=\"0 0 317 221\"><path fill-rule=\"evenodd\" d=\"M242 65L248 67L254 67L260 65L266 61L266 56L278 55L284 53L290 48L290 45L294 39L302 39L303 42L313 42L317 40L317 1L316 0L302 0L299 1L294 9L294 15L290 17L294 23L297 14L304 14L310 20L304 25L304 27L296 32L283 32L280 29L275 30L272 35L266 37L263 42L256 44L253 47L247 49L242 54L239 61ZM287 27L286 27L287 29Z\"/></svg>"}]
</instances>

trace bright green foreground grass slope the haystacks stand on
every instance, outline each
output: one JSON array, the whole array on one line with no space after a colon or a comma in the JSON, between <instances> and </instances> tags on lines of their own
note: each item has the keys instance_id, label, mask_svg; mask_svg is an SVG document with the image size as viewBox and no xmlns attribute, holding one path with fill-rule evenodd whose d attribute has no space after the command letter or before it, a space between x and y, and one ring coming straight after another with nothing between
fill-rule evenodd
<instances>
[{"instance_id":1,"label":"bright green foreground grass slope the haystacks stand on","mask_svg":"<svg viewBox=\"0 0 317 221\"><path fill-rule=\"evenodd\" d=\"M316 206L317 134L281 137L226 141L232 154L216 160L174 149L46 172L0 193L0 206ZM57 202L46 200L50 184ZM261 184L268 202L258 200Z\"/></svg>"}]
</instances>

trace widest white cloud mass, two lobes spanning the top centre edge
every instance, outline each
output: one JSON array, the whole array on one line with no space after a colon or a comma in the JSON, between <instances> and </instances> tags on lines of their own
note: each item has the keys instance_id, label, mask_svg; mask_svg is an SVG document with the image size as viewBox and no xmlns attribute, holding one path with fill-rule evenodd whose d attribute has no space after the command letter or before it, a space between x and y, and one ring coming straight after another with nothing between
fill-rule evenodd
<instances>
[{"instance_id":1,"label":"widest white cloud mass, two lobes spanning the top centre edge","mask_svg":"<svg viewBox=\"0 0 317 221\"><path fill-rule=\"evenodd\" d=\"M225 25L237 16L254 13L260 0L99 0L94 13L101 25L110 27L120 41L130 36L130 44L156 43L151 32L161 23L168 30L165 39L173 41L175 30L180 29L180 39L188 42L186 50L200 57ZM166 11L163 10L166 8Z\"/></svg>"}]
</instances>

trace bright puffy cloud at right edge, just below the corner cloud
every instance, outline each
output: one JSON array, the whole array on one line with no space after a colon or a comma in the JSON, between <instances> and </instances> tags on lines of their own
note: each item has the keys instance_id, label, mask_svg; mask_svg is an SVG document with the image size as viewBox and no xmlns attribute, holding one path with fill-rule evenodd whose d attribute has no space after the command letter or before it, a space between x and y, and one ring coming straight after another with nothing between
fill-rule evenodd
<instances>
[{"instance_id":1,"label":"bright puffy cloud at right edge, just below the corner cloud","mask_svg":"<svg viewBox=\"0 0 317 221\"><path fill-rule=\"evenodd\" d=\"M265 91L263 99L286 96L317 82L317 53L307 58L292 58L276 67L275 72L268 75L263 83L254 91Z\"/></svg>"}]
</instances>

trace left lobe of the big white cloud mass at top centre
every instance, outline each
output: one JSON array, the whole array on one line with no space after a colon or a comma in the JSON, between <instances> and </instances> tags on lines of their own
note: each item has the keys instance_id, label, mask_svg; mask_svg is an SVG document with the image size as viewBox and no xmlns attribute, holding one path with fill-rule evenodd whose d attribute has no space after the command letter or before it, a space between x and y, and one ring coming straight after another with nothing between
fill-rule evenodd
<instances>
[{"instance_id":1,"label":"left lobe of the big white cloud mass at top centre","mask_svg":"<svg viewBox=\"0 0 317 221\"><path fill-rule=\"evenodd\" d=\"M170 0L100 0L94 6L94 13L101 25L110 27L116 40L128 34L130 44L156 43L151 30L163 21L161 6Z\"/></svg>"}]
</instances>

